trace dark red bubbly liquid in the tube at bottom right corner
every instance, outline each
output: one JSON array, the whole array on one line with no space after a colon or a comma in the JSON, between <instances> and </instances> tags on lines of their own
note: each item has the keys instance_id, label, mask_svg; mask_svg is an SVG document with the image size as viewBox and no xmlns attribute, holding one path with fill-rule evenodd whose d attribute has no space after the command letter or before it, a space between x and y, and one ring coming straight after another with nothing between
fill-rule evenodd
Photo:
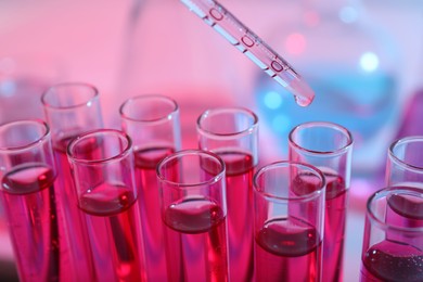
<instances>
[{"instance_id":1,"label":"dark red bubbly liquid in the tube at bottom right corner","mask_svg":"<svg viewBox=\"0 0 423 282\"><path fill-rule=\"evenodd\" d=\"M423 281L423 251L395 241L377 243L362 257L360 281Z\"/></svg>"}]
</instances>

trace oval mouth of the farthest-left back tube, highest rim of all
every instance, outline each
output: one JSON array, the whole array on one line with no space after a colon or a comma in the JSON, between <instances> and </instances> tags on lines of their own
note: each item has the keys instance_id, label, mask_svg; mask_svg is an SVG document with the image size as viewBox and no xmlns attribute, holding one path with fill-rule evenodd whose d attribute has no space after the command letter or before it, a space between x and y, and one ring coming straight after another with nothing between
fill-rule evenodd
<instances>
[{"instance_id":1,"label":"oval mouth of the farthest-left back tube, highest rim of all","mask_svg":"<svg viewBox=\"0 0 423 282\"><path fill-rule=\"evenodd\" d=\"M53 110L72 110L80 106L91 106L99 98L99 90L85 82L57 84L41 95L41 103Z\"/></svg>"}]
</instances>

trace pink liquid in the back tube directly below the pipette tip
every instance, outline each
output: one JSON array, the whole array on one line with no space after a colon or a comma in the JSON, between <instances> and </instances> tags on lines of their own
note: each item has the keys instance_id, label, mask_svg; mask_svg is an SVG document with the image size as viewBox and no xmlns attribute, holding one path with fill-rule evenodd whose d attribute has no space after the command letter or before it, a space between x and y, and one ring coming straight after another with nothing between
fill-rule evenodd
<instances>
[{"instance_id":1,"label":"pink liquid in the back tube directly below the pipette tip","mask_svg":"<svg viewBox=\"0 0 423 282\"><path fill-rule=\"evenodd\" d=\"M326 179L326 203L322 281L342 281L348 190L342 177L324 171L323 174ZM302 181L300 184L296 183L297 193L309 193L316 190L317 183L313 183L313 179L302 176Z\"/></svg>"}]
</instances>

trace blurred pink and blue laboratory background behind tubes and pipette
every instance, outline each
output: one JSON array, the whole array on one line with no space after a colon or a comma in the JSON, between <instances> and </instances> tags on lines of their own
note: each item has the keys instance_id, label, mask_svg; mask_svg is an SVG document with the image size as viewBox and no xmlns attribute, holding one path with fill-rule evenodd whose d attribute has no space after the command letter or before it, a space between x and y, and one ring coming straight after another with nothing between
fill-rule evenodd
<instances>
[{"instance_id":1,"label":"blurred pink and blue laboratory background behind tubes and pipette","mask_svg":"<svg viewBox=\"0 0 423 282\"><path fill-rule=\"evenodd\" d=\"M161 93L180 105L182 146L195 148L206 108L259 118L260 165L286 158L287 133L309 120L354 136L345 281L358 281L363 210L382 188L388 145L423 134L423 1L220 0L287 60L316 92L291 93L179 0L0 0L0 124L43 117L40 95L63 81L100 91L107 127L128 98ZM14 279L0 206L0 280Z\"/></svg>"}]
</instances>

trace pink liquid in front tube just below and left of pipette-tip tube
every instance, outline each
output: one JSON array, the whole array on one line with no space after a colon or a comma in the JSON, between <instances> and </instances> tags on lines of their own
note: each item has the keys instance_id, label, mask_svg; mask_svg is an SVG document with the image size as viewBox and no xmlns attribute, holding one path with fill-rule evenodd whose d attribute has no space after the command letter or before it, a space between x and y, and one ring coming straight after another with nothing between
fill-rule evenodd
<instances>
[{"instance_id":1,"label":"pink liquid in front tube just below and left of pipette-tip tube","mask_svg":"<svg viewBox=\"0 0 423 282\"><path fill-rule=\"evenodd\" d=\"M256 233L256 281L320 281L319 238L295 218L268 221Z\"/></svg>"}]
</instances>

